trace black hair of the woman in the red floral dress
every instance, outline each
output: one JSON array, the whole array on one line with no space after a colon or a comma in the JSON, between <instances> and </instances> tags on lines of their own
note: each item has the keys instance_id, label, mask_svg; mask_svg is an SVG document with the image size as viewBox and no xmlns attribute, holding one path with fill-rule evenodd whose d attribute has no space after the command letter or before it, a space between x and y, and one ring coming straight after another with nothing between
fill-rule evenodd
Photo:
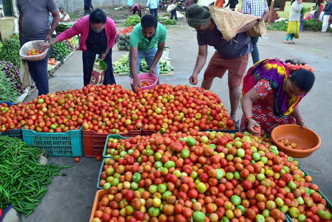
<instances>
[{"instance_id":1,"label":"black hair of the woman in the red floral dress","mask_svg":"<svg viewBox=\"0 0 332 222\"><path fill-rule=\"evenodd\" d=\"M286 60L286 63L291 64L301 64L305 65L303 62L295 62L293 60ZM308 69L298 69L290 73L290 81L299 87L299 89L309 92L313 83L315 82L315 75Z\"/></svg>"}]
</instances>

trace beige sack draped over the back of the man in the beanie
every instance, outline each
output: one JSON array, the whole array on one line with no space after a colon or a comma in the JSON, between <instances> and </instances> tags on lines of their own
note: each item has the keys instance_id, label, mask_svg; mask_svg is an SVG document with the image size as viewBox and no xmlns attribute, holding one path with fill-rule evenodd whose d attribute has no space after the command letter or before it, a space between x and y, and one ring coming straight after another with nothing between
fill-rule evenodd
<instances>
[{"instance_id":1,"label":"beige sack draped over the back of the man in the beanie","mask_svg":"<svg viewBox=\"0 0 332 222\"><path fill-rule=\"evenodd\" d=\"M254 20L258 20L258 23L246 32L247 36L265 35L266 26L263 18L235 12L228 8L218 8L215 5L210 5L208 8L214 23L226 41L231 40L240 28Z\"/></svg>"}]
</instances>

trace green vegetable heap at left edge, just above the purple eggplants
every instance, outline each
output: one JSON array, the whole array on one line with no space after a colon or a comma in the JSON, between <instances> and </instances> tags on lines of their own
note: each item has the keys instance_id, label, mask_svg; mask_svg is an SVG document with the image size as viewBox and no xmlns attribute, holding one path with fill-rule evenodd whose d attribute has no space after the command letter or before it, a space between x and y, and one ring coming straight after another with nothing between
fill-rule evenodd
<instances>
[{"instance_id":1,"label":"green vegetable heap at left edge, just above the purple eggplants","mask_svg":"<svg viewBox=\"0 0 332 222\"><path fill-rule=\"evenodd\" d=\"M3 61L10 61L14 65L21 65L20 56L20 39L19 35L15 35L13 39L6 40L2 43L2 48L0 50L0 59Z\"/></svg>"}]
</instances>

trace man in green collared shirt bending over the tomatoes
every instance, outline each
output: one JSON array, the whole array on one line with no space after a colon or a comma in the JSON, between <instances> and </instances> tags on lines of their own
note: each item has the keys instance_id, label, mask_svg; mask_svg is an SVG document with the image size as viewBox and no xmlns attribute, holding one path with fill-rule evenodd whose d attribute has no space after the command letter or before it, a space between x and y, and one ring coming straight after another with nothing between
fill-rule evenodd
<instances>
[{"instance_id":1,"label":"man in green collared shirt bending over the tomatoes","mask_svg":"<svg viewBox=\"0 0 332 222\"><path fill-rule=\"evenodd\" d=\"M166 41L166 28L158 23L151 15L143 16L141 23L137 24L130 36L129 66L130 75L133 78L132 89L141 87L138 81L141 60L145 58L150 74L158 76L159 84L159 60L163 55Z\"/></svg>"}]
</instances>

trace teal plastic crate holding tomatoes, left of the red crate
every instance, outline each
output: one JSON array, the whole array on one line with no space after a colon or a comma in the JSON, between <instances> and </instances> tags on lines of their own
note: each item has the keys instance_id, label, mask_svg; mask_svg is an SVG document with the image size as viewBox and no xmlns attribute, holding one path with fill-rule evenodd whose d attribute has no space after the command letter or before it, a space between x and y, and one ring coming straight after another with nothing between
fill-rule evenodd
<instances>
[{"instance_id":1,"label":"teal plastic crate holding tomatoes, left of the red crate","mask_svg":"<svg viewBox=\"0 0 332 222\"><path fill-rule=\"evenodd\" d=\"M31 129L22 129L22 134L26 144L42 148L50 156L83 156L82 126L78 130L65 133L38 133Z\"/></svg>"}]
</instances>

